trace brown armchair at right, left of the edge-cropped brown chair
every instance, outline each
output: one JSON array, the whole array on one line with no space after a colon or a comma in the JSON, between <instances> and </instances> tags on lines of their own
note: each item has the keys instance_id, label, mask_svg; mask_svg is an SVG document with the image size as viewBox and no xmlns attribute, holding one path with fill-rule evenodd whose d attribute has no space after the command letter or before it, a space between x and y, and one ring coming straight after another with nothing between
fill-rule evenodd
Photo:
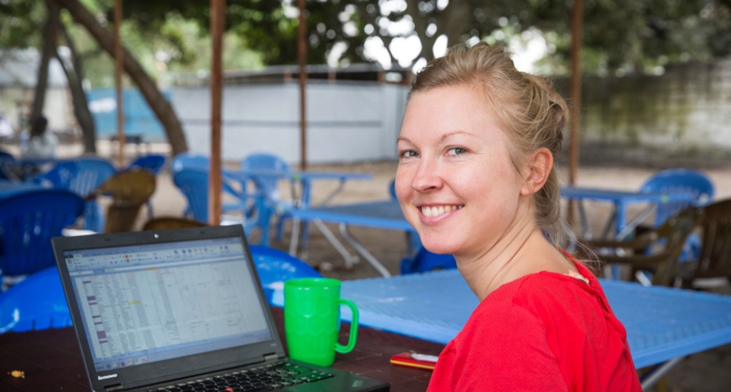
<instances>
[{"instance_id":1,"label":"brown armchair at right, left of the edge-cropped brown chair","mask_svg":"<svg viewBox=\"0 0 731 392\"><path fill-rule=\"evenodd\" d=\"M688 207L651 231L628 241L594 240L585 245L594 250L602 248L621 249L622 253L602 254L599 259L607 264L629 264L633 274L640 269L654 272L653 285L673 285L678 270L678 256L683 251L688 236L700 225L703 209ZM646 253L647 249L651 252ZM629 250L629 252L627 252Z\"/></svg>"}]
</instances>

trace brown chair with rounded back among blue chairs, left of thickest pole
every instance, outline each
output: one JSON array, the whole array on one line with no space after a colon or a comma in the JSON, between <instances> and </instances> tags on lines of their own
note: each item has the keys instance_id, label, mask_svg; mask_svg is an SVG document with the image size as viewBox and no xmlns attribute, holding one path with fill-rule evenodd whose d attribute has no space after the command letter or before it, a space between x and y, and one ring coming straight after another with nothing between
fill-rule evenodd
<instances>
[{"instance_id":1,"label":"brown chair with rounded back among blue chairs, left of thickest pole","mask_svg":"<svg viewBox=\"0 0 731 392\"><path fill-rule=\"evenodd\" d=\"M132 231L140 207L155 192L155 176L143 169L132 169L115 174L99 185L90 197L112 196L112 204L107 210L105 233Z\"/></svg>"}]
</instances>

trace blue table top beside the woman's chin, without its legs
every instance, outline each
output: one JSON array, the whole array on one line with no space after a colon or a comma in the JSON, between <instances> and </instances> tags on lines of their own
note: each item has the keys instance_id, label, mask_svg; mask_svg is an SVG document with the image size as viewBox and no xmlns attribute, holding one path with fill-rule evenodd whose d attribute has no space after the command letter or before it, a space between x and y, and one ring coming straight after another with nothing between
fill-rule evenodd
<instances>
[{"instance_id":1,"label":"blue table top beside the woman's chin, without its legs","mask_svg":"<svg viewBox=\"0 0 731 392\"><path fill-rule=\"evenodd\" d=\"M292 216L304 220L319 219L354 226L415 231L404 218L398 201L385 200L370 203L341 204L329 207L291 210Z\"/></svg>"}]
</instances>

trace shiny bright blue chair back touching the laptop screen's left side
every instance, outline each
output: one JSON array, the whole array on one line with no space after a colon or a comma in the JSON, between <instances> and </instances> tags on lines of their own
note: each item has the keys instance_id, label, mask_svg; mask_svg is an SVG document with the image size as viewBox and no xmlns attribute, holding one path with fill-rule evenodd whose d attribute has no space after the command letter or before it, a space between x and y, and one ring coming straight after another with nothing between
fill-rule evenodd
<instances>
[{"instance_id":1,"label":"shiny bright blue chair back touching the laptop screen's left side","mask_svg":"<svg viewBox=\"0 0 731 392\"><path fill-rule=\"evenodd\" d=\"M58 269L36 272L0 293L0 334L72 325Z\"/></svg>"}]
</instances>

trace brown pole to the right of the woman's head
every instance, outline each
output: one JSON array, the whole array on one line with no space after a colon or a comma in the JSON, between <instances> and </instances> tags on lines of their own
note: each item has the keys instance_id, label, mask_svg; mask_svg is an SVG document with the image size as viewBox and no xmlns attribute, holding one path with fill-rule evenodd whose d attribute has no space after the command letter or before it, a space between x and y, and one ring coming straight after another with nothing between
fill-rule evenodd
<instances>
[{"instance_id":1,"label":"brown pole to the right of the woman's head","mask_svg":"<svg viewBox=\"0 0 731 392\"><path fill-rule=\"evenodd\" d=\"M575 185L579 168L579 128L581 126L581 44L583 42L584 1L574 0L571 18L571 81L569 82L569 184ZM574 220L574 204L569 201L569 224Z\"/></svg>"}]
</instances>

